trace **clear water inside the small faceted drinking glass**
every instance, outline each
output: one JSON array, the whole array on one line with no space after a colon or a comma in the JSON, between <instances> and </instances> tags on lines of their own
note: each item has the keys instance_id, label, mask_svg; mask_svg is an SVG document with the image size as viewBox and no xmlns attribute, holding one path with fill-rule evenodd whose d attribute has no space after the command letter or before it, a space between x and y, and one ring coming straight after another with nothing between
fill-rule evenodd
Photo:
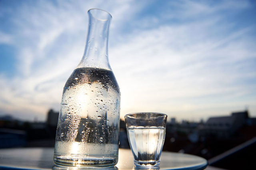
<instances>
[{"instance_id":1,"label":"clear water inside the small faceted drinking glass","mask_svg":"<svg viewBox=\"0 0 256 170\"><path fill-rule=\"evenodd\" d=\"M160 162L165 138L164 127L129 127L128 138L134 154L134 163L154 166Z\"/></svg>"}]
</instances>

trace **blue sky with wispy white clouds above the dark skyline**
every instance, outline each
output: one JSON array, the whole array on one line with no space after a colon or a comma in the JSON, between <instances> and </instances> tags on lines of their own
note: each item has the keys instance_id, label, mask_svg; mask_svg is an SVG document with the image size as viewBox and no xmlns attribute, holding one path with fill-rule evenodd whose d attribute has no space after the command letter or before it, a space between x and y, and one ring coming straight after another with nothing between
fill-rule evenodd
<instances>
[{"instance_id":1,"label":"blue sky with wispy white clouds above the dark skyline","mask_svg":"<svg viewBox=\"0 0 256 170\"><path fill-rule=\"evenodd\" d=\"M82 58L87 11L112 14L109 61L121 117L256 117L253 0L0 0L0 115L44 121Z\"/></svg>"}]
</instances>

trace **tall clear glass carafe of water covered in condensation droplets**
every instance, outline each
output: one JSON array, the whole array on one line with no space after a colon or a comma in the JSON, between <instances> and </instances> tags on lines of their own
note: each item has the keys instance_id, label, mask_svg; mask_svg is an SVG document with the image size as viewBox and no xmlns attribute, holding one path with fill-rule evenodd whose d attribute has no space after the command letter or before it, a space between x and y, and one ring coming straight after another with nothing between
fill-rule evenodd
<instances>
[{"instance_id":1,"label":"tall clear glass carafe of water covered in condensation droplets","mask_svg":"<svg viewBox=\"0 0 256 170\"><path fill-rule=\"evenodd\" d=\"M63 89L54 163L61 166L114 166L118 161L120 91L108 63L112 16L88 11L89 28L82 60Z\"/></svg>"}]
</instances>

